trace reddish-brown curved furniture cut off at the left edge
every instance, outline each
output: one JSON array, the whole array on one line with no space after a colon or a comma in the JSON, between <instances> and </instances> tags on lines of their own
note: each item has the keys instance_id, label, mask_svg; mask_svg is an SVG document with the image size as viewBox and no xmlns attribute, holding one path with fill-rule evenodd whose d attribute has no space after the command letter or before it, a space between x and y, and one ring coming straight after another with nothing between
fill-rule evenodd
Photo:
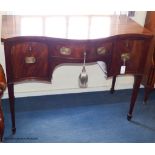
<instances>
[{"instance_id":1,"label":"reddish-brown curved furniture cut off at the left edge","mask_svg":"<svg viewBox=\"0 0 155 155\"><path fill-rule=\"evenodd\" d=\"M5 88L6 88L5 74L0 64L0 141L2 141L3 133L4 133L4 116L3 116L3 111L2 111L1 97L3 95Z\"/></svg>"}]
</instances>

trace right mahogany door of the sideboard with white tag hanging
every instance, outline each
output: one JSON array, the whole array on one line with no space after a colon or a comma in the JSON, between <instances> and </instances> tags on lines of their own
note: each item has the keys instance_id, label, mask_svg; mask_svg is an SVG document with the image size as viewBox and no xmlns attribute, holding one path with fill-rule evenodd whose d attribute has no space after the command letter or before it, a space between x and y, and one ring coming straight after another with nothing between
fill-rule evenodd
<instances>
[{"instance_id":1,"label":"right mahogany door of the sideboard with white tag hanging","mask_svg":"<svg viewBox=\"0 0 155 155\"><path fill-rule=\"evenodd\" d=\"M143 39L118 39L112 58L112 73L143 74L147 52L146 42Z\"/></svg>"}]
</instances>

